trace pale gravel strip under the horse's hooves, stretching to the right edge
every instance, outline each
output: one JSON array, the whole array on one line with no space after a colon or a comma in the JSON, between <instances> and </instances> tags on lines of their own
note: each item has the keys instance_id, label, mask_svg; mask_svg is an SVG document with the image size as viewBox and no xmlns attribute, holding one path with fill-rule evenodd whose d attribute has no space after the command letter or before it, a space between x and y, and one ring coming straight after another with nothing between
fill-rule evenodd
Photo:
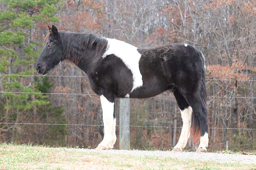
<instances>
[{"instance_id":1,"label":"pale gravel strip under the horse's hooves, stretching to the right edge","mask_svg":"<svg viewBox=\"0 0 256 170\"><path fill-rule=\"evenodd\" d=\"M67 148L66 148L67 149ZM68 148L67 150L73 150ZM172 157L177 159L192 159L201 161L215 161L218 163L256 164L256 155L242 155L229 153L195 153L195 152L171 152L171 151L148 151L148 150L87 150L75 149L81 152L98 152L106 154L122 154L131 156L158 156Z\"/></svg>"}]
</instances>

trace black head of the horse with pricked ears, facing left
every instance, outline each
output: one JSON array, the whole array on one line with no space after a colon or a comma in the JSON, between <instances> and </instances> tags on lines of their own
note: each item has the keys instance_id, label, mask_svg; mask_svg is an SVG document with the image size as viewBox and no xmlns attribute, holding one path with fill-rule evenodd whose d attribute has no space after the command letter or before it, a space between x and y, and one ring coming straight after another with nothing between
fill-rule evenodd
<instances>
[{"instance_id":1,"label":"black head of the horse with pricked ears, facing left","mask_svg":"<svg viewBox=\"0 0 256 170\"><path fill-rule=\"evenodd\" d=\"M52 25L48 26L49 33L44 39L44 47L36 62L35 68L39 74L47 74L48 71L58 65L64 58L61 43L59 41L58 29Z\"/></svg>"}]
</instances>

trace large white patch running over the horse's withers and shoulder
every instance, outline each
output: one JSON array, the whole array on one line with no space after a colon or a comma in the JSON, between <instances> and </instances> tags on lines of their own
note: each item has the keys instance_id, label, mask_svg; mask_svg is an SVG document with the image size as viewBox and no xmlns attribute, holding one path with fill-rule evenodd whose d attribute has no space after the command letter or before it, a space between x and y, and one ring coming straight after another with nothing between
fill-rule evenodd
<instances>
[{"instance_id":1,"label":"large white patch running over the horse's withers and shoulder","mask_svg":"<svg viewBox=\"0 0 256 170\"><path fill-rule=\"evenodd\" d=\"M122 59L133 75L133 87L131 92L141 87L143 85L139 68L141 54L137 51L137 47L116 39L106 38L106 40L108 40L108 47L102 57L104 58L107 55L114 54L116 57Z\"/></svg>"}]
</instances>

